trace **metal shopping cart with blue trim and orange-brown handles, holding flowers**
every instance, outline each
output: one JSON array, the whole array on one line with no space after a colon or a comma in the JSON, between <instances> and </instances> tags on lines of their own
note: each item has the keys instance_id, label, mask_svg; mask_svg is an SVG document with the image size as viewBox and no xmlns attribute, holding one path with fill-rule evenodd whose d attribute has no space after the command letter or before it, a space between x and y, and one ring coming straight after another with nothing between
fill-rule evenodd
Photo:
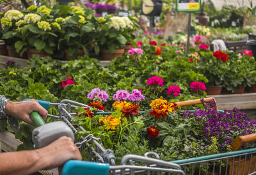
<instances>
[{"instance_id":1,"label":"metal shopping cart with blue trim and orange-brown handles, holding flowers","mask_svg":"<svg viewBox=\"0 0 256 175\"><path fill-rule=\"evenodd\" d=\"M211 100L214 98L204 98L205 102ZM82 126L75 127L71 124L72 116L77 115L72 112L72 109L88 107L87 105L72 100L62 100L60 103L39 102L47 110L49 105L56 105L59 116L51 114L48 116L64 121L74 133L84 130ZM177 102L177 105L182 107L199 103L201 103L200 99ZM223 110L218 111L223 112ZM98 113L109 114L103 111ZM236 150L244 142L255 139L256 134L237 137L234 142L234 151L230 153L166 162L160 160L157 153L147 152L144 156L125 155L120 165L115 165L115 155L111 149L104 149L100 139L92 134L84 135L75 142L80 151L86 150L88 161L68 160L63 167L62 174L250 174L255 172L256 149Z\"/></svg>"}]
</instances>

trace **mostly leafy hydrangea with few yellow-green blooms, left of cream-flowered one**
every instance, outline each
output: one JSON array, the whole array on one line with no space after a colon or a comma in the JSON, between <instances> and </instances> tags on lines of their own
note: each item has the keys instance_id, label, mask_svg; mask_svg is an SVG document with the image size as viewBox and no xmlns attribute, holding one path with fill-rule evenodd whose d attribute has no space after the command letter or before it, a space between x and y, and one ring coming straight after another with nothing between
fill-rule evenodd
<instances>
[{"instance_id":1,"label":"mostly leafy hydrangea with few yellow-green blooms, left of cream-flowered one","mask_svg":"<svg viewBox=\"0 0 256 175\"><path fill-rule=\"evenodd\" d=\"M93 40L97 34L96 19L93 17L92 10L83 10L83 12L60 21L62 37L58 41L58 48L65 50L67 59L88 55L93 49Z\"/></svg>"}]
</instances>

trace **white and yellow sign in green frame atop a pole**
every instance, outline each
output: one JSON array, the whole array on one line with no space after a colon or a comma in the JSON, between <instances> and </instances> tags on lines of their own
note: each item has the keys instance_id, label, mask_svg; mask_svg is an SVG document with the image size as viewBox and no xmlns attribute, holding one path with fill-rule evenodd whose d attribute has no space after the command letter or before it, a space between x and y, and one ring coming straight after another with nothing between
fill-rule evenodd
<instances>
[{"instance_id":1,"label":"white and yellow sign in green frame atop a pole","mask_svg":"<svg viewBox=\"0 0 256 175\"><path fill-rule=\"evenodd\" d=\"M179 11L179 12L201 11L201 0L176 0L176 11Z\"/></svg>"}]
</instances>

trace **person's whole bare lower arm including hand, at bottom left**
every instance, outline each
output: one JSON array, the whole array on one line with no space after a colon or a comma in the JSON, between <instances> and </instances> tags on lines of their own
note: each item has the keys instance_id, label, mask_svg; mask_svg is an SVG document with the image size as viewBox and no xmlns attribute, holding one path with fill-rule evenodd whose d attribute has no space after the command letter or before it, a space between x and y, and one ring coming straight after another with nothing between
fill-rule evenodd
<instances>
[{"instance_id":1,"label":"person's whole bare lower arm including hand, at bottom left","mask_svg":"<svg viewBox=\"0 0 256 175\"><path fill-rule=\"evenodd\" d=\"M61 137L41 149L1 153L0 174L31 174L58 167L70 159L81 160L82 156L72 139Z\"/></svg>"}]
</instances>

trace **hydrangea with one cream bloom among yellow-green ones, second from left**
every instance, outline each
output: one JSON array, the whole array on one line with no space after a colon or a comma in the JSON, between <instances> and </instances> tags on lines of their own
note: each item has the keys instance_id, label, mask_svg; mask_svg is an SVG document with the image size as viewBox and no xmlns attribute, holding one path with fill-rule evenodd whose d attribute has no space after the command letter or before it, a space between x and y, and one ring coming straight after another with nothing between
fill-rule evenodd
<instances>
[{"instance_id":1,"label":"hydrangea with one cream bloom among yellow-green ones, second from left","mask_svg":"<svg viewBox=\"0 0 256 175\"><path fill-rule=\"evenodd\" d=\"M35 13L36 11L36 13ZM56 50L57 32L60 25L53 21L51 8L30 6L24 20L20 20L17 29L20 40L15 42L15 49L20 54L28 52L28 57L39 54L50 56Z\"/></svg>"}]
</instances>

